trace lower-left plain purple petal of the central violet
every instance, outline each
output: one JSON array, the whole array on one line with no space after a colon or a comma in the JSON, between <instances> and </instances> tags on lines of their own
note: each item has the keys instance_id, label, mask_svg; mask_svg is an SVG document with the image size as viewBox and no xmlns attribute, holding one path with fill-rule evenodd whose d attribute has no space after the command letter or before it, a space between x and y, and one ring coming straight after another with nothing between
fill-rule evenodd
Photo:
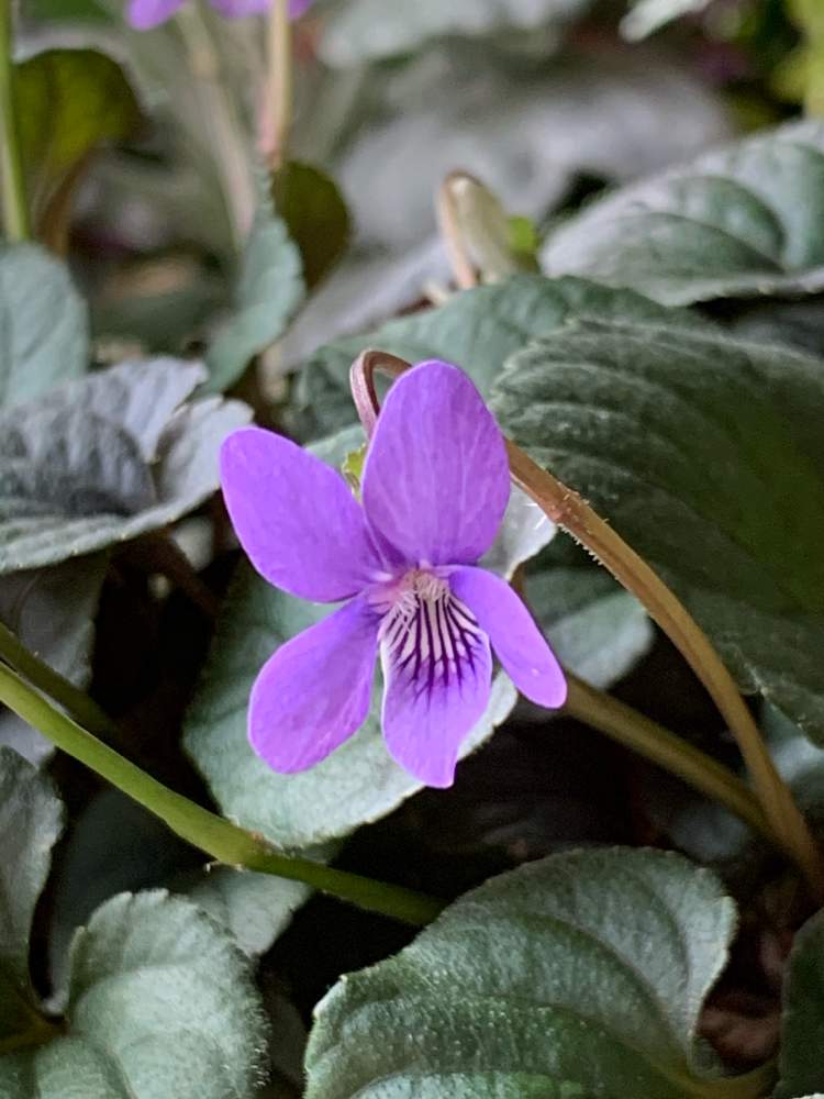
<instances>
[{"instance_id":1,"label":"lower-left plain purple petal of the central violet","mask_svg":"<svg viewBox=\"0 0 824 1099\"><path fill-rule=\"evenodd\" d=\"M356 598L292 637L264 665L249 699L249 743L280 774L325 759L369 710L378 619Z\"/></svg>"}]
</instances>

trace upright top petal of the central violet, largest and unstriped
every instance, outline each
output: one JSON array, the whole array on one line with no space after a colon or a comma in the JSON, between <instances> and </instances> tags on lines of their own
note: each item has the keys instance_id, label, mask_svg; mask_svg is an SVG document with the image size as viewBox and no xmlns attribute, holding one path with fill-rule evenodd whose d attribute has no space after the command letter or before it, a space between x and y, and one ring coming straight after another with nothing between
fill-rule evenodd
<instances>
[{"instance_id":1,"label":"upright top petal of the central violet, largest and unstriped","mask_svg":"<svg viewBox=\"0 0 824 1099\"><path fill-rule=\"evenodd\" d=\"M421 363L389 390L364 469L369 524L409 564L474 564L510 495L503 437L457 366Z\"/></svg>"}]
</instances>

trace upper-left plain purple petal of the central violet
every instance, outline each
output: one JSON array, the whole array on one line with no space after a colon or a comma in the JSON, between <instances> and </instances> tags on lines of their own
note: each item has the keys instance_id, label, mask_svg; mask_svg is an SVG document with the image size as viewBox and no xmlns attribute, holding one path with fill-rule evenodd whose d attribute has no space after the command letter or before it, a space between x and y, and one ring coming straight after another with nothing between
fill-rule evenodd
<instances>
[{"instance_id":1,"label":"upper-left plain purple petal of the central violet","mask_svg":"<svg viewBox=\"0 0 824 1099\"><path fill-rule=\"evenodd\" d=\"M261 428L233 432L221 449L221 482L243 548L276 587L335 602L380 568L346 481L288 439Z\"/></svg>"}]
</instances>

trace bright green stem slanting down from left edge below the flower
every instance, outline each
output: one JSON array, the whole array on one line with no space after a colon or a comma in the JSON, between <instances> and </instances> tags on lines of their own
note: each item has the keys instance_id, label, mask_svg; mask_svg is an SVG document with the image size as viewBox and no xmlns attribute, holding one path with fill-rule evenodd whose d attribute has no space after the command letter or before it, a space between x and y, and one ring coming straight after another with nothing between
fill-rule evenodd
<instances>
[{"instance_id":1,"label":"bright green stem slanting down from left edge below the flower","mask_svg":"<svg viewBox=\"0 0 824 1099\"><path fill-rule=\"evenodd\" d=\"M218 862L303 881L370 912L414 925L430 923L444 907L442 901L411 889L276 851L261 835L232 824L152 778L60 712L2 663L0 702Z\"/></svg>"}]
</instances>

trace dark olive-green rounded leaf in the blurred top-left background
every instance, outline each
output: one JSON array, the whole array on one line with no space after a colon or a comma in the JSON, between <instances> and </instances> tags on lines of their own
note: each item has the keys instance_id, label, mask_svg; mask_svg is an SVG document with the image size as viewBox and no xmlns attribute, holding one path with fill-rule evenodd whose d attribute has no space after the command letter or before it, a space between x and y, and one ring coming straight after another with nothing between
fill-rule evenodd
<instances>
[{"instance_id":1,"label":"dark olive-green rounded leaf in the blurred top-left background","mask_svg":"<svg viewBox=\"0 0 824 1099\"><path fill-rule=\"evenodd\" d=\"M14 70L29 200L37 221L102 142L132 134L137 101L116 62L94 49L49 49Z\"/></svg>"}]
</instances>

